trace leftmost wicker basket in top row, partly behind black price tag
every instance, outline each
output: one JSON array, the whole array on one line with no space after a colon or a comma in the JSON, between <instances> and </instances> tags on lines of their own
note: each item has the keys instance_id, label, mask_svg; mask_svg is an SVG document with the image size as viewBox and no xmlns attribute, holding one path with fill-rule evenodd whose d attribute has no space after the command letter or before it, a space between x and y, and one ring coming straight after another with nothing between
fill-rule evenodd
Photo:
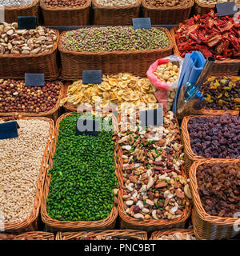
<instances>
[{"instance_id":1,"label":"leftmost wicker basket in top row, partly behind black price tag","mask_svg":"<svg viewBox=\"0 0 240 256\"><path fill-rule=\"evenodd\" d=\"M36 16L39 22L39 0L34 0L28 6L6 6L4 7L5 22L18 22L18 16Z\"/></svg>"}]
</instances>

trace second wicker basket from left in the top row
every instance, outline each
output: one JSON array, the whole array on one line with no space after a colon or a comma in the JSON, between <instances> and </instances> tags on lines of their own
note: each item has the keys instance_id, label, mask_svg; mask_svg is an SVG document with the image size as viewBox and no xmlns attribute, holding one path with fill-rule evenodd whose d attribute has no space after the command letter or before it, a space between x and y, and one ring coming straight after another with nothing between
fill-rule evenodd
<instances>
[{"instance_id":1,"label":"second wicker basket from left in the top row","mask_svg":"<svg viewBox=\"0 0 240 256\"><path fill-rule=\"evenodd\" d=\"M46 0L41 0L43 24L45 26L86 26L89 25L90 4L84 6L52 7L46 6Z\"/></svg>"}]
</instances>

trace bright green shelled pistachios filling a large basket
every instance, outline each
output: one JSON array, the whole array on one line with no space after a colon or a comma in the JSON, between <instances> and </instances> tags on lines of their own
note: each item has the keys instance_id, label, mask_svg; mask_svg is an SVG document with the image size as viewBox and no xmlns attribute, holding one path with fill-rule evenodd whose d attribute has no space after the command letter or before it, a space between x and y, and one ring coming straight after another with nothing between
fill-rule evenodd
<instances>
[{"instance_id":1,"label":"bright green shelled pistachios filling a large basket","mask_svg":"<svg viewBox=\"0 0 240 256\"><path fill-rule=\"evenodd\" d=\"M110 117L72 114L60 122L46 210L60 221L99 221L107 218L118 193L115 174L114 131L103 129L98 136L75 135L78 118L109 123ZM109 121L109 122L108 122Z\"/></svg>"}]
</instances>

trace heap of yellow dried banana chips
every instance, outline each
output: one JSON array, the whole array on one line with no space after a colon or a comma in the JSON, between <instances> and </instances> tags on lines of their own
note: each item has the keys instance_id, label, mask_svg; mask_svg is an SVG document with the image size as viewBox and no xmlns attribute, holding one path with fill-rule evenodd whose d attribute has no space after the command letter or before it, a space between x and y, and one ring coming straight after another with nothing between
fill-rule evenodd
<instances>
[{"instance_id":1,"label":"heap of yellow dried banana chips","mask_svg":"<svg viewBox=\"0 0 240 256\"><path fill-rule=\"evenodd\" d=\"M139 78L127 73L103 75L102 84L83 85L82 80L71 84L66 98L61 101L61 106L67 102L76 107L81 103L98 107L97 103L102 101L102 107L115 103L120 110L121 103L125 102L142 109L148 103L157 102L154 90L147 78Z\"/></svg>"}]
</instances>

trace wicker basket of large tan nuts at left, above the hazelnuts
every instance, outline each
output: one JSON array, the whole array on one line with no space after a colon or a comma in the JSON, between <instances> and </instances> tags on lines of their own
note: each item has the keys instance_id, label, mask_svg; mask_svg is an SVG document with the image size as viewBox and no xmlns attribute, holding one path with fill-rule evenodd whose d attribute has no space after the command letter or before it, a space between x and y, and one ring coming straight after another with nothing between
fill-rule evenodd
<instances>
[{"instance_id":1,"label":"wicker basket of large tan nuts at left, above the hazelnuts","mask_svg":"<svg viewBox=\"0 0 240 256\"><path fill-rule=\"evenodd\" d=\"M58 30L54 30L57 40L52 50L40 54L0 54L0 78L24 78L25 73L43 73L46 80L58 78L57 48Z\"/></svg>"}]
</instances>

